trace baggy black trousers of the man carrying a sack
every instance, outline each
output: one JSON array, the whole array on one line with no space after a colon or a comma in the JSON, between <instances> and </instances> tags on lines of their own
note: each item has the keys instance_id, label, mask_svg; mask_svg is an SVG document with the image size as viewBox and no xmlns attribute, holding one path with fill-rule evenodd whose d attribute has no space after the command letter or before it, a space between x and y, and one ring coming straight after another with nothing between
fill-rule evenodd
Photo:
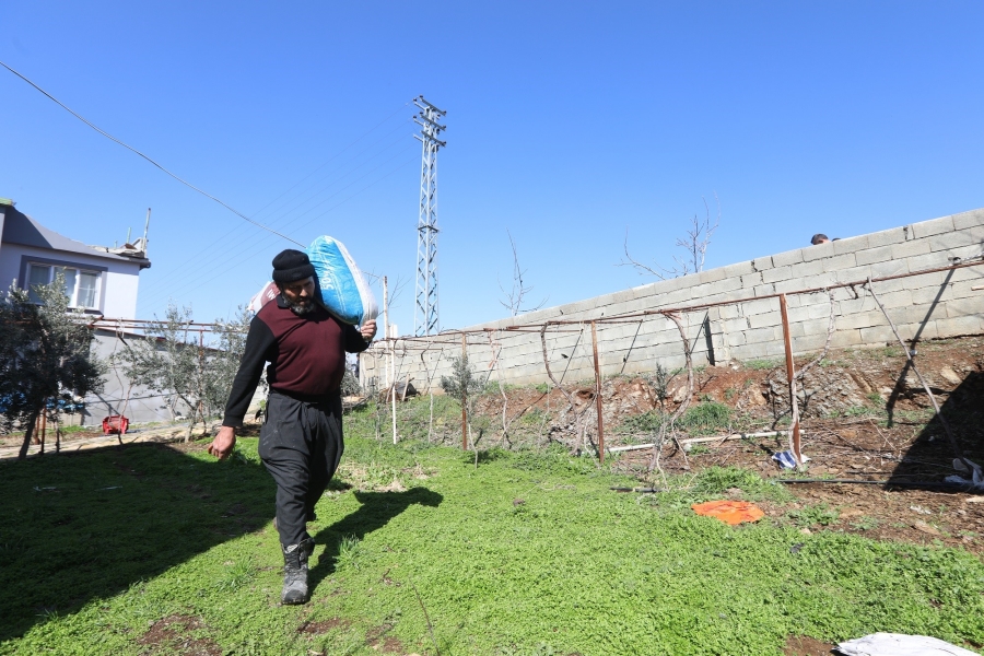
<instances>
[{"instance_id":1,"label":"baggy black trousers of the man carrying a sack","mask_svg":"<svg viewBox=\"0 0 984 656\"><path fill-rule=\"evenodd\" d=\"M341 396L306 402L271 390L260 430L259 456L277 481L280 543L306 540L307 517L341 460Z\"/></svg>"}]
</instances>

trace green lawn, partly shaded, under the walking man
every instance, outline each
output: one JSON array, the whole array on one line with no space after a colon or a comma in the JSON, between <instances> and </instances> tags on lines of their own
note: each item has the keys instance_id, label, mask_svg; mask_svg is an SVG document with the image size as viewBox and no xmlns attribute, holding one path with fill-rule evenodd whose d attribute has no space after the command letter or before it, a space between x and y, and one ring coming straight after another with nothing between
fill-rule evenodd
<instances>
[{"instance_id":1,"label":"green lawn, partly shaded, under the walking man","mask_svg":"<svg viewBox=\"0 0 984 656\"><path fill-rule=\"evenodd\" d=\"M350 425L309 529L314 595L280 607L256 440L215 462L131 445L0 464L0 654L782 654L876 631L984 644L984 564L948 548L731 528L686 492L550 450L380 445ZM429 628L427 619L431 626Z\"/></svg>"}]
</instances>

